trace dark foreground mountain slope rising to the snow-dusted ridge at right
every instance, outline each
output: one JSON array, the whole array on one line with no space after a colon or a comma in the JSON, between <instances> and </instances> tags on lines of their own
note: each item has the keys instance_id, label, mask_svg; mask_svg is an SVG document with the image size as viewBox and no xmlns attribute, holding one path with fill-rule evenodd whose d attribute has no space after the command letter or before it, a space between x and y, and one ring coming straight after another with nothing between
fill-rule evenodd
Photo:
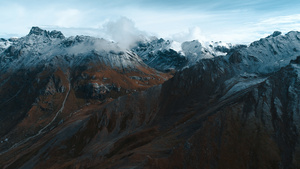
<instances>
[{"instance_id":1,"label":"dark foreground mountain slope rising to the snow-dusted ridge at right","mask_svg":"<svg viewBox=\"0 0 300 169\"><path fill-rule=\"evenodd\" d=\"M14 145L11 134L0 167L299 168L299 51L299 32L275 32L199 59L161 85L77 107L76 83L53 78L66 88L51 104L68 118ZM159 55L170 68L168 56Z\"/></svg>"}]
</instances>

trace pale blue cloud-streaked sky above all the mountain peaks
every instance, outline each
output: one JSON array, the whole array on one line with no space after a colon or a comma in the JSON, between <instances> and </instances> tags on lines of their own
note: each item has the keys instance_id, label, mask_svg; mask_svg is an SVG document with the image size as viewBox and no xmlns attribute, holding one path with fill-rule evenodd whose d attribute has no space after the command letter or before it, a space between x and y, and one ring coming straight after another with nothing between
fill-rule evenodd
<instances>
[{"instance_id":1,"label":"pale blue cloud-streaked sky above all the mountain peaks","mask_svg":"<svg viewBox=\"0 0 300 169\"><path fill-rule=\"evenodd\" d=\"M178 41L249 43L300 31L299 9L299 0L1 0L0 37L25 36L32 26L98 37L126 27Z\"/></svg>"}]
</instances>

